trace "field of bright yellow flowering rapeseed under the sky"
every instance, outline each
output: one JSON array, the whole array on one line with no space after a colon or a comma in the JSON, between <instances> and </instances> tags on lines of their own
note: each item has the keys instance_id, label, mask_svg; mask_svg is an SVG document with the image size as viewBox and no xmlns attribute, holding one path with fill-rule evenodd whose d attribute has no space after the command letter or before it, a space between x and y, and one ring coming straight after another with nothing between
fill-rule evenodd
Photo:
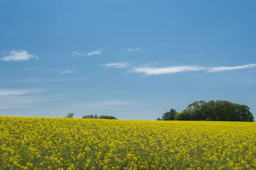
<instances>
[{"instance_id":1,"label":"field of bright yellow flowering rapeseed under the sky","mask_svg":"<svg viewBox=\"0 0 256 170\"><path fill-rule=\"evenodd\" d=\"M256 123L0 116L0 170L256 169Z\"/></svg>"}]
</instances>

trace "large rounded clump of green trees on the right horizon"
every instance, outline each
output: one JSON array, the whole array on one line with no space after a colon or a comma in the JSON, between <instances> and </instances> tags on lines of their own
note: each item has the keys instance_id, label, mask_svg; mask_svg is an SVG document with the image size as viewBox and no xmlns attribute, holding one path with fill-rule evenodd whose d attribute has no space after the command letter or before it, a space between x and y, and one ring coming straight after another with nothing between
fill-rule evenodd
<instances>
[{"instance_id":1,"label":"large rounded clump of green trees on the right horizon","mask_svg":"<svg viewBox=\"0 0 256 170\"><path fill-rule=\"evenodd\" d=\"M206 121L234 121L254 122L254 116L247 105L239 105L223 100L197 101L188 105L186 109L177 112L171 109L157 120L206 120Z\"/></svg>"}]
</instances>

